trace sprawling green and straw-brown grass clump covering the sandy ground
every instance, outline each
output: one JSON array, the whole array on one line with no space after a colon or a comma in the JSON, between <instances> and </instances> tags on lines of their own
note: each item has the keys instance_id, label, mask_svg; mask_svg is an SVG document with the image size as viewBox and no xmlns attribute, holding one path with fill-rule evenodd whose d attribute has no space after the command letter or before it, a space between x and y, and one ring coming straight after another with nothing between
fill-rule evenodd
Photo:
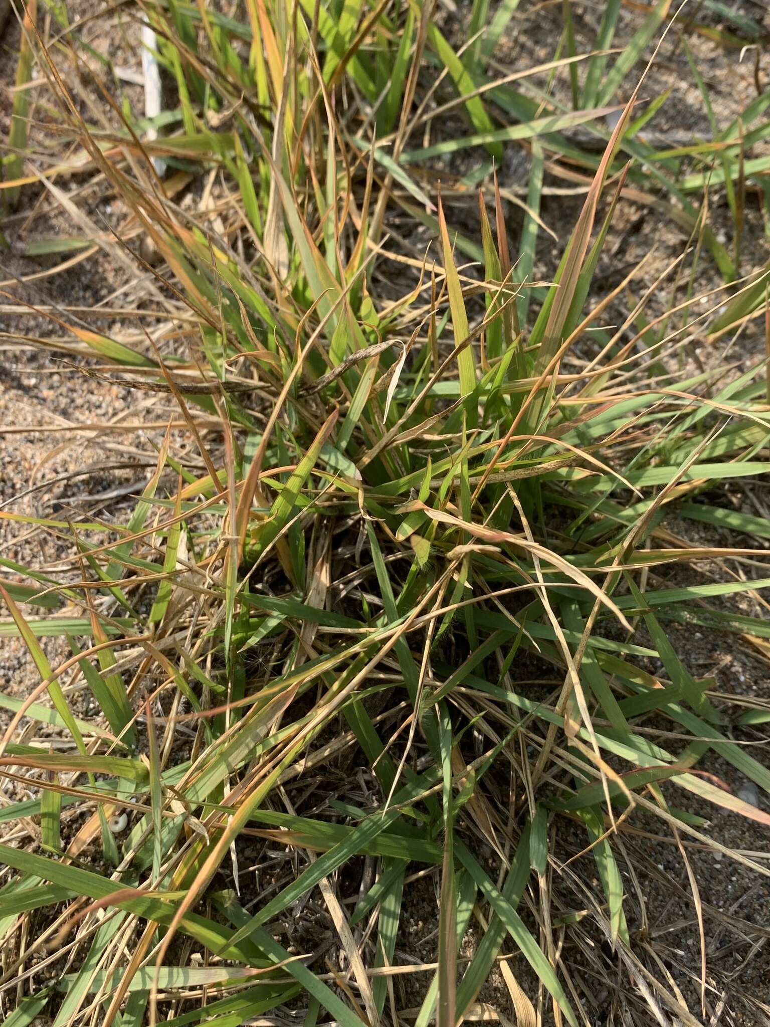
<instances>
[{"instance_id":1,"label":"sprawling green and straw-brown grass clump covering the sandy ground","mask_svg":"<svg viewBox=\"0 0 770 1027\"><path fill-rule=\"evenodd\" d=\"M0 844L14 1024L47 1010L54 1027L455 1027L510 1003L521 1025L577 1025L596 1015L588 982L610 989L615 1022L695 1024L717 1004L703 925L720 913L689 846L767 869L697 810L770 816L700 765L716 754L770 794L731 736L767 706L736 712L670 633L767 647L766 525L708 496L765 473L770 425L761 362L738 375L684 357L694 332L716 341L764 314L767 274L741 278L740 239L770 93L665 149L645 138L656 101L643 113L638 90L617 98L668 2L622 49L608 3L587 54L565 4L553 58L495 77L516 6L476 0L458 48L419 2L142 5L128 24L155 32L174 98L152 124L112 99L100 75L114 68L86 81L83 28L63 9L46 7L45 30L28 18L25 74L34 47L61 121L55 163L29 155L25 174L83 233L38 253L95 243L145 295L109 332L40 307L63 335L26 341L156 400L168 429L129 517L12 515L64 540L76 570L3 558L22 578L4 583L0 632L41 679L2 698L3 773L35 796L0 820L39 824L35 846ZM720 31L727 45L749 29ZM531 177L512 253L493 165L513 142ZM554 280L538 282L546 166L585 194ZM119 224L63 190L75 175L119 198ZM479 185L476 214L463 200ZM720 186L732 244L709 225ZM624 195L690 245L639 300L644 262L595 299ZM648 316L687 262L684 301ZM704 262L721 280L702 304ZM743 537L695 546L671 511ZM704 581L702 564L741 572ZM719 605L730 596L749 612ZM51 663L55 637L69 654ZM98 716L73 713L81 690ZM23 718L66 744L20 741ZM650 943L631 827L670 839L687 868L695 1012ZM425 879L436 958L410 964L399 931Z\"/></svg>"}]
</instances>

